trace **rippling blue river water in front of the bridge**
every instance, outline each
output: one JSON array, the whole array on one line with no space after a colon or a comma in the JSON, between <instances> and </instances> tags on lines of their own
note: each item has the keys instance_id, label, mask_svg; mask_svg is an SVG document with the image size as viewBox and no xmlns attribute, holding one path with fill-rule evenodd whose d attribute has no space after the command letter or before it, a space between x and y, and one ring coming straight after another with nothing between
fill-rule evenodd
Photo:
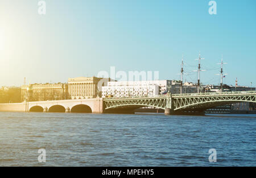
<instances>
[{"instance_id":1,"label":"rippling blue river water in front of the bridge","mask_svg":"<svg viewBox=\"0 0 256 178\"><path fill-rule=\"evenodd\" d=\"M255 114L0 113L0 166L212 165L256 165Z\"/></svg>"}]
</instances>

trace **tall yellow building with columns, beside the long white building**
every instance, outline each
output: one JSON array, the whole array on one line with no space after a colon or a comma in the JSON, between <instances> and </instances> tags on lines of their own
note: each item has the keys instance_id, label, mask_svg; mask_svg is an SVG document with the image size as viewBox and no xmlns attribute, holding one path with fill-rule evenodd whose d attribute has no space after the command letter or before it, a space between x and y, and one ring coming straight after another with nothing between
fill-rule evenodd
<instances>
[{"instance_id":1,"label":"tall yellow building with columns, beside the long white building","mask_svg":"<svg viewBox=\"0 0 256 178\"><path fill-rule=\"evenodd\" d=\"M71 99L101 97L101 89L109 78L76 77L68 78L68 93ZM100 82L100 83L99 83Z\"/></svg>"}]
</instances>

